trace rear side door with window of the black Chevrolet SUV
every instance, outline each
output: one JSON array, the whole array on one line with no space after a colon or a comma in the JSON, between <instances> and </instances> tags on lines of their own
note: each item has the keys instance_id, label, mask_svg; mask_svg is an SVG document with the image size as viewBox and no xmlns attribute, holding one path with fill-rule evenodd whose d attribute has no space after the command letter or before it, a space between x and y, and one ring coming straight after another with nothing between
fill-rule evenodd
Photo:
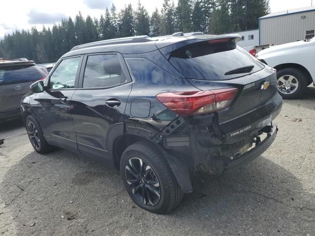
<instances>
[{"instance_id":1,"label":"rear side door with window of the black Chevrolet SUV","mask_svg":"<svg viewBox=\"0 0 315 236\"><path fill-rule=\"evenodd\" d=\"M81 88L71 98L78 149L83 155L110 165L108 136L112 127L123 124L131 78L120 54L86 55L83 65Z\"/></svg>"}]
</instances>

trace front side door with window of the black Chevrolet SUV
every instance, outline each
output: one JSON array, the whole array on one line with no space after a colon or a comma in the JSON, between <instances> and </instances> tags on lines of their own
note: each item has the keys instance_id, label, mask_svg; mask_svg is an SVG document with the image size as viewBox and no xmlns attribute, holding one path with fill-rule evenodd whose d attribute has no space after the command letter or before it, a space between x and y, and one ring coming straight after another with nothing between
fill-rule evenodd
<instances>
[{"instance_id":1,"label":"front side door with window of the black Chevrolet SUV","mask_svg":"<svg viewBox=\"0 0 315 236\"><path fill-rule=\"evenodd\" d=\"M62 59L38 96L38 117L49 144L77 151L71 97L77 87L82 56Z\"/></svg>"}]
</instances>

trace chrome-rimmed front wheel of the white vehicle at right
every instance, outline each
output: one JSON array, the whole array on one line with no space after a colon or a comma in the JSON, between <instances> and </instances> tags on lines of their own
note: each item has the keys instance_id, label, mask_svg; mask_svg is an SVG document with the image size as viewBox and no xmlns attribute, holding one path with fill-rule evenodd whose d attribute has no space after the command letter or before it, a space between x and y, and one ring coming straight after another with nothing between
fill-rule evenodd
<instances>
[{"instance_id":1,"label":"chrome-rimmed front wheel of the white vehicle at right","mask_svg":"<svg viewBox=\"0 0 315 236\"><path fill-rule=\"evenodd\" d=\"M284 91L281 89L281 86L284 86L283 82L289 82L290 79L292 80L292 87L289 89L290 91ZM291 67L279 70L277 72L277 80L278 92L284 99L299 98L304 93L308 84L305 74L301 70ZM293 89L296 85L297 88Z\"/></svg>"}]
</instances>

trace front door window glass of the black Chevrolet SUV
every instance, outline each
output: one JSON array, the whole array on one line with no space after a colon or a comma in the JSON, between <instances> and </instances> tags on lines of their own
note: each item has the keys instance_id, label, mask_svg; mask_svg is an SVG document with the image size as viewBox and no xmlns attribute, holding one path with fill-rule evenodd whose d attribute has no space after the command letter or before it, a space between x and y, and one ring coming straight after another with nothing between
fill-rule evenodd
<instances>
[{"instance_id":1,"label":"front door window glass of the black Chevrolet SUV","mask_svg":"<svg viewBox=\"0 0 315 236\"><path fill-rule=\"evenodd\" d=\"M80 57L63 59L50 76L49 89L74 88Z\"/></svg>"}]
</instances>

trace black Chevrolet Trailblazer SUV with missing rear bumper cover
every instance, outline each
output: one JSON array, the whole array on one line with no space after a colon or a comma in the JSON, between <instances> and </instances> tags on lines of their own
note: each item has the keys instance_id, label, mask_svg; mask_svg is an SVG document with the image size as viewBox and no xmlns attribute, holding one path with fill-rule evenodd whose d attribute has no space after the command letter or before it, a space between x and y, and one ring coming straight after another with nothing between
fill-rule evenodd
<instances>
[{"instance_id":1,"label":"black Chevrolet Trailblazer SUV with missing rear bumper cover","mask_svg":"<svg viewBox=\"0 0 315 236\"><path fill-rule=\"evenodd\" d=\"M74 47L22 101L33 148L95 158L121 171L136 205L171 211L192 191L190 174L234 170L276 137L276 73L239 39L177 33Z\"/></svg>"}]
</instances>

